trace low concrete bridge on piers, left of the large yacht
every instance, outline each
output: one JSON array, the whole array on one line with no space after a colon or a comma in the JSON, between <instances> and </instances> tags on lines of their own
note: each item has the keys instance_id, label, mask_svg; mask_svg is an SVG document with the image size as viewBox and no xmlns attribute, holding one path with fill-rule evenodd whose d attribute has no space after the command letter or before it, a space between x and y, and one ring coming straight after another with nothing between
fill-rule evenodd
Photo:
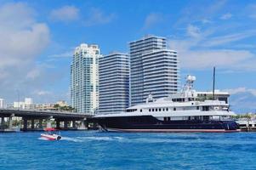
<instances>
[{"instance_id":1,"label":"low concrete bridge on piers, left of the large yacht","mask_svg":"<svg viewBox=\"0 0 256 170\"><path fill-rule=\"evenodd\" d=\"M0 109L0 132L12 131L14 117L20 117L20 130L43 130L43 127L51 127L50 121L54 120L56 128L59 129L77 129L77 125L86 128L86 120L91 117L89 114L76 113L68 111L39 111L39 110L21 110L21 109ZM29 123L28 123L29 122ZM37 122L37 123L36 123ZM44 124L43 124L44 122ZM63 127L60 126L64 122ZM28 124L31 127L28 127ZM36 125L36 126L35 126ZM71 125L71 127L69 127Z\"/></svg>"}]
</instances>

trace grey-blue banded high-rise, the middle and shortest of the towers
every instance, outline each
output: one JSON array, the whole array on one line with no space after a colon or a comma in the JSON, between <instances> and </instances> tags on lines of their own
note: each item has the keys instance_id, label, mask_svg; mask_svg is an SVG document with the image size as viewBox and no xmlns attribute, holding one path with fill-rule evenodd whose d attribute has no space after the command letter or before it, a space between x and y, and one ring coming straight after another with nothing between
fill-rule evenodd
<instances>
[{"instance_id":1,"label":"grey-blue banded high-rise, the middle and shortest of the towers","mask_svg":"<svg viewBox=\"0 0 256 170\"><path fill-rule=\"evenodd\" d=\"M100 57L100 114L120 113L129 106L129 57L113 53Z\"/></svg>"}]
</instances>

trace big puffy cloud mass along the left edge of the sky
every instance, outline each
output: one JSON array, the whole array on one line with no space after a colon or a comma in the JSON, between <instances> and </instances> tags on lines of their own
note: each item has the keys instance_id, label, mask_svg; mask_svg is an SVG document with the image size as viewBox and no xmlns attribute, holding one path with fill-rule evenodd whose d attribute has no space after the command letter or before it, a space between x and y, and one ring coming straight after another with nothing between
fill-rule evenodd
<instances>
[{"instance_id":1,"label":"big puffy cloud mass along the left edge of the sky","mask_svg":"<svg viewBox=\"0 0 256 170\"><path fill-rule=\"evenodd\" d=\"M0 94L14 98L15 89L29 93L39 77L35 61L50 42L48 26L36 20L26 3L0 5ZM20 90L21 91L21 90Z\"/></svg>"}]
</instances>

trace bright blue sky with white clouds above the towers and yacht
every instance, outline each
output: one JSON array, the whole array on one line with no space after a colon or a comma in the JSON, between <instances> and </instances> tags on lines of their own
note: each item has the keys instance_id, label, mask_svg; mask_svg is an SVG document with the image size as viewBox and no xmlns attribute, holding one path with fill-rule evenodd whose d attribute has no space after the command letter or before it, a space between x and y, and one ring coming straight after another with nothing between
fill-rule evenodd
<instances>
[{"instance_id":1,"label":"bright blue sky with white clouds above the towers and yacht","mask_svg":"<svg viewBox=\"0 0 256 170\"><path fill-rule=\"evenodd\" d=\"M0 0L0 98L69 101L70 64L80 43L101 54L128 52L146 34L168 37L179 53L181 85L229 91L237 112L256 111L255 1Z\"/></svg>"}]
</instances>

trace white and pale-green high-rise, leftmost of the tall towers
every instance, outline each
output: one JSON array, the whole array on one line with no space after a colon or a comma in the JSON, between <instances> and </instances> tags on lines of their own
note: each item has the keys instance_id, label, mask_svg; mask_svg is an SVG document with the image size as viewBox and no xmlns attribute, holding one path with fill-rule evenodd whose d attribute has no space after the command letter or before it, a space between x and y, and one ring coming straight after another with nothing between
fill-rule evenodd
<instances>
[{"instance_id":1,"label":"white and pale-green high-rise, leftmost of the tall towers","mask_svg":"<svg viewBox=\"0 0 256 170\"><path fill-rule=\"evenodd\" d=\"M71 106L77 112L94 115L99 106L98 45L82 43L71 62Z\"/></svg>"}]
</instances>

